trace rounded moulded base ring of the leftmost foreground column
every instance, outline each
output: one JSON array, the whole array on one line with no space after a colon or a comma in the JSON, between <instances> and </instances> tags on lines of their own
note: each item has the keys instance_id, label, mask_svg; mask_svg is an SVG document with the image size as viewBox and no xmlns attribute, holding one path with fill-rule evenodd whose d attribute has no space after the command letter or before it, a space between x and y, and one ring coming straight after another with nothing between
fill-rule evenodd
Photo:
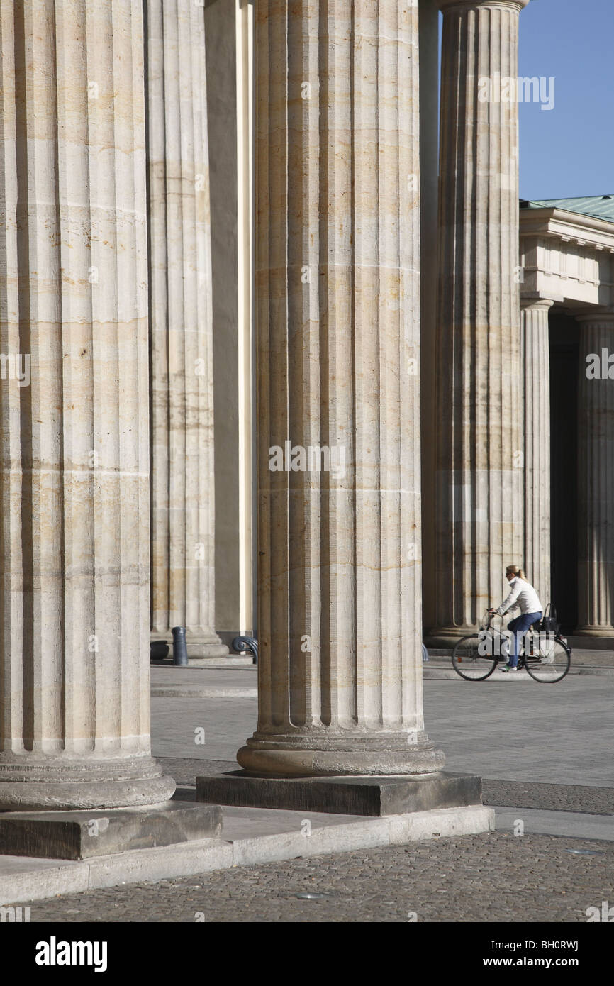
<instances>
[{"instance_id":1,"label":"rounded moulded base ring of the leftmost foreground column","mask_svg":"<svg viewBox=\"0 0 614 986\"><path fill-rule=\"evenodd\" d=\"M0 763L1 811L104 810L160 805L175 783L154 759ZM1 817L1 815L0 815Z\"/></svg>"}]
</instances>

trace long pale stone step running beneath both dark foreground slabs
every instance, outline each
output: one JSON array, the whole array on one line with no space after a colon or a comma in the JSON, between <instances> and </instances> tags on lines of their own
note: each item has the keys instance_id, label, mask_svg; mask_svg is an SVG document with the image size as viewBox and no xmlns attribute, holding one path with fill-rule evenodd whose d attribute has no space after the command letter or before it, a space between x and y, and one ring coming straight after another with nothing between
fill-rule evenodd
<instances>
[{"instance_id":1,"label":"long pale stone step running beneath both dark foreground slabs","mask_svg":"<svg viewBox=\"0 0 614 986\"><path fill-rule=\"evenodd\" d=\"M292 860L298 856L350 852L372 846L403 845L445 836L474 835L495 828L495 812L482 806L422 811L388 818L347 818L328 826L315 821L307 837L304 813L263 811L266 824L250 824L251 835L233 838L229 822L248 810L225 810L225 838L203 839L156 849L139 849L78 862L0 856L0 906L80 893L120 883L171 880ZM289 817L290 815L290 817ZM307 815L308 817L308 815ZM277 823L276 823L276 819ZM271 828L274 831L271 832ZM259 830L260 829L260 830ZM35 914L34 914L35 917Z\"/></svg>"}]
</instances>

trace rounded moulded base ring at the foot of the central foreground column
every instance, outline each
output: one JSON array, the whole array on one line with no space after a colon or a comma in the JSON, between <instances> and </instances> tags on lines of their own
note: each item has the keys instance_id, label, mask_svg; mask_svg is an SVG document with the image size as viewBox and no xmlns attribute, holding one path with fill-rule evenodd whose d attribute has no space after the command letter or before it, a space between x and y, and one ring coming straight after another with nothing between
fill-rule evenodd
<instances>
[{"instance_id":1,"label":"rounded moulded base ring at the foot of the central foreground column","mask_svg":"<svg viewBox=\"0 0 614 986\"><path fill-rule=\"evenodd\" d=\"M319 741L308 736L256 734L241 746L237 760L256 776L385 777L436 773L442 769L445 755L426 734L395 733L372 738L350 735Z\"/></svg>"}]
</instances>

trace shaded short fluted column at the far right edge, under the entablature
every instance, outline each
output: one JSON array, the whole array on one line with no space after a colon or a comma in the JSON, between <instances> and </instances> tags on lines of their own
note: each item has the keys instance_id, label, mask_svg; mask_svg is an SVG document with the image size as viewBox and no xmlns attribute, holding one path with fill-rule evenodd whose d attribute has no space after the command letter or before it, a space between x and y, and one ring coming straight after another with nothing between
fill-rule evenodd
<instances>
[{"instance_id":1,"label":"shaded short fluted column at the far right edge, under the entablature","mask_svg":"<svg viewBox=\"0 0 614 986\"><path fill-rule=\"evenodd\" d=\"M578 632L614 637L614 313L578 320Z\"/></svg>"}]
</instances>

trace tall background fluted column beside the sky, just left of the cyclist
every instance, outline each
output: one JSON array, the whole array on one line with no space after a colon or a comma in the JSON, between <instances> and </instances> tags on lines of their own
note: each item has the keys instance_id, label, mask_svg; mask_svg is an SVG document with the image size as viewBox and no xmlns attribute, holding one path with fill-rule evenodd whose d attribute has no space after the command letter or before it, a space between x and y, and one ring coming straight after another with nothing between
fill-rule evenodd
<instances>
[{"instance_id":1,"label":"tall background fluted column beside the sky, just left of the cyclist","mask_svg":"<svg viewBox=\"0 0 614 986\"><path fill-rule=\"evenodd\" d=\"M443 639L471 632L484 610L503 599L506 566L522 561L514 89L518 14L527 2L439 3L437 616L432 634Z\"/></svg>"}]
</instances>

